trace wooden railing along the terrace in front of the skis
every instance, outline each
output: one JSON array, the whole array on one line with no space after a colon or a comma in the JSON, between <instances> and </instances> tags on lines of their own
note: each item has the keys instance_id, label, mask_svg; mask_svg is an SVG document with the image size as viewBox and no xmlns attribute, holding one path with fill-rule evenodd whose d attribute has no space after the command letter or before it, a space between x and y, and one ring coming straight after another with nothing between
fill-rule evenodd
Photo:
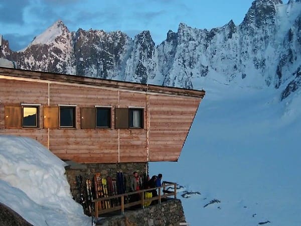
<instances>
[{"instance_id":1,"label":"wooden railing along the terrace in front of the skis","mask_svg":"<svg viewBox=\"0 0 301 226\"><path fill-rule=\"evenodd\" d=\"M169 188L174 188L174 190L170 191ZM158 196L152 197L152 198L144 198L144 192L149 192L154 189L158 189ZM138 201L124 203L125 197L133 196L134 194L139 195L140 199ZM147 189L128 192L128 193L124 193L124 194L111 195L111 196L107 196L107 197L97 198L97 199L92 200L92 202L94 202L94 213L95 213L95 218L97 218L99 216L99 214L113 212L113 211L116 211L119 209L121 210L121 214L123 215L125 208L131 207L134 205L139 205L139 204L141 205L142 208L144 208L145 202L158 200L158 202L161 203L162 198L167 198L169 196L174 196L174 199L177 198L177 183L164 181L163 185L161 187L147 188ZM120 200L120 205L115 205L113 207L103 208L103 209L98 208L101 205L100 202L110 201L111 199L115 199L115 200L118 199L118 201Z\"/></svg>"}]
</instances>

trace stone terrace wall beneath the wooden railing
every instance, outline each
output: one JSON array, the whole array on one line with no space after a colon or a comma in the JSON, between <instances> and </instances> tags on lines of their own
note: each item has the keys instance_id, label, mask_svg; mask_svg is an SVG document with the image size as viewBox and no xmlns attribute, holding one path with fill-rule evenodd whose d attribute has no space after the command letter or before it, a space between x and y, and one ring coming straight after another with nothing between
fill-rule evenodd
<instances>
[{"instance_id":1,"label":"stone terrace wall beneath the wooden railing","mask_svg":"<svg viewBox=\"0 0 301 226\"><path fill-rule=\"evenodd\" d=\"M126 210L124 216L110 216L99 219L96 225L103 226L178 226L185 221L182 202L172 199L144 209Z\"/></svg>"}]
</instances>

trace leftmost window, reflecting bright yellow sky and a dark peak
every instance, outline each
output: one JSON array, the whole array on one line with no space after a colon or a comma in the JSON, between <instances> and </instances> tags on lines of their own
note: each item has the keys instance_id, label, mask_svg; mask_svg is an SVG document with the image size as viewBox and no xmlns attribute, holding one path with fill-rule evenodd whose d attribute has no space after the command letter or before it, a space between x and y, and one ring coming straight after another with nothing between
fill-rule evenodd
<instances>
[{"instance_id":1,"label":"leftmost window, reflecting bright yellow sky and a dark peak","mask_svg":"<svg viewBox=\"0 0 301 226\"><path fill-rule=\"evenodd\" d=\"M23 106L23 127L39 127L39 107L38 106Z\"/></svg>"}]
</instances>

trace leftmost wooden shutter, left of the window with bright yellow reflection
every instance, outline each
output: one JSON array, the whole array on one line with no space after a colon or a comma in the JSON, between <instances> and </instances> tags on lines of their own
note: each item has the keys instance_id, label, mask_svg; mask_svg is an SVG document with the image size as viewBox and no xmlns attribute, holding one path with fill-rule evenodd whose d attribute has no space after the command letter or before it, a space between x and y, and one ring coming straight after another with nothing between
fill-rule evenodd
<instances>
[{"instance_id":1,"label":"leftmost wooden shutter, left of the window with bright yellow reflection","mask_svg":"<svg viewBox=\"0 0 301 226\"><path fill-rule=\"evenodd\" d=\"M22 128L21 106L5 106L5 127Z\"/></svg>"}]
</instances>

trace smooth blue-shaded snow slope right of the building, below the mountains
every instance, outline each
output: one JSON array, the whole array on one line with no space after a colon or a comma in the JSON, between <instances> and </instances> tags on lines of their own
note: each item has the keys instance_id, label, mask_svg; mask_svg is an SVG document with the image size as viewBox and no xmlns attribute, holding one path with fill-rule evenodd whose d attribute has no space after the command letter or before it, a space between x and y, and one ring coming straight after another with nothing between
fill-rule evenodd
<instances>
[{"instance_id":1,"label":"smooth blue-shaded snow slope right of the building, below the mountains","mask_svg":"<svg viewBox=\"0 0 301 226\"><path fill-rule=\"evenodd\" d=\"M150 163L150 176L184 186L179 197L201 193L181 197L192 226L301 225L301 93L205 89L179 162Z\"/></svg>"}]
</instances>

